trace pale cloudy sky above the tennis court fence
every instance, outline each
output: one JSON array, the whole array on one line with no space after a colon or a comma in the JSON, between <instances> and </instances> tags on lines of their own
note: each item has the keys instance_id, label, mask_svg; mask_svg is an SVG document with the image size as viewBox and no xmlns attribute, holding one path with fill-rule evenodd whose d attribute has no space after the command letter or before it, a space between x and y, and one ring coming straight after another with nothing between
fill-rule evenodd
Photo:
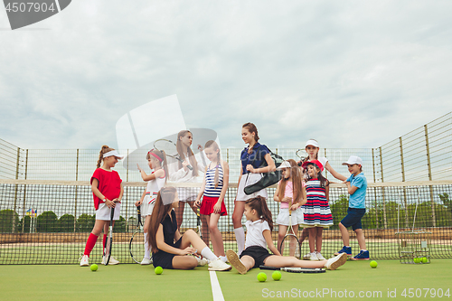
<instances>
[{"instance_id":1,"label":"pale cloudy sky above the tennis court fence","mask_svg":"<svg viewBox=\"0 0 452 301\"><path fill-rule=\"evenodd\" d=\"M0 138L23 148L118 146L173 94L223 147L248 121L268 146L377 147L452 110L449 1L73 0L14 31L2 6L0 44Z\"/></svg>"}]
</instances>

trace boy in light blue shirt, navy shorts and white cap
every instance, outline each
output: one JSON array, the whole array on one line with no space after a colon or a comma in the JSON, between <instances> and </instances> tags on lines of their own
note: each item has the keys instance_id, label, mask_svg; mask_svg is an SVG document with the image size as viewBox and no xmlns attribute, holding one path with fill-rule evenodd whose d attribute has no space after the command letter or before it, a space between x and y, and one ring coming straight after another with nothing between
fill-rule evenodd
<instances>
[{"instance_id":1,"label":"boy in light blue shirt, navy shorts and white cap","mask_svg":"<svg viewBox=\"0 0 452 301\"><path fill-rule=\"evenodd\" d=\"M341 230L344 247L340 251L334 253L339 255L346 253L347 256L352 256L352 247L350 247L350 236L348 234L348 227L352 227L356 233L360 252L352 260L369 260L369 251L366 249L366 242L364 239L363 226L361 219L366 212L365 199L367 190L367 180L363 174L363 160L356 155L351 155L347 162L342 165L348 166L350 177L344 182L347 185L350 199L348 201L347 215L339 222L339 229Z\"/></svg>"}]
</instances>

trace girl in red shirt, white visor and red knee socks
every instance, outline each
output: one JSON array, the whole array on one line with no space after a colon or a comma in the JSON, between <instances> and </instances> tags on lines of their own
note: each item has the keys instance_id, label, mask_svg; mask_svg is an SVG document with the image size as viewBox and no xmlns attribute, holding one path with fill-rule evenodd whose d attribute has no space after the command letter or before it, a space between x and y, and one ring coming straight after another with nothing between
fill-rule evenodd
<instances>
[{"instance_id":1,"label":"girl in red shirt, white visor and red knee socks","mask_svg":"<svg viewBox=\"0 0 452 301\"><path fill-rule=\"evenodd\" d=\"M118 163L118 159L122 158L123 156L119 155L116 150L108 146L102 146L102 149L100 150L98 168L91 177L91 191L94 197L94 208L96 209L96 223L89 234L85 251L80 259L80 267L88 267L89 253L94 248L102 229L104 230L102 245L105 246L111 208L115 208L113 220L119 220L121 199L124 189L118 172L111 170L111 168L115 167ZM103 161L102 166L100 166L101 161ZM110 257L108 265L117 265L118 263L117 259ZM105 264L105 258L102 258L102 264Z\"/></svg>"}]
</instances>

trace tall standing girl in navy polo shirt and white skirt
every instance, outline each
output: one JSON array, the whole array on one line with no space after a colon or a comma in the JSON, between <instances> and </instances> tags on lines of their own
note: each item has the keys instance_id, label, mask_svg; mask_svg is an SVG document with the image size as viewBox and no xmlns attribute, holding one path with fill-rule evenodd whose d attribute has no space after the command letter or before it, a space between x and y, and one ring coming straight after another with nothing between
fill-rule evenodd
<instances>
[{"instance_id":1,"label":"tall standing girl in navy polo shirt and white skirt","mask_svg":"<svg viewBox=\"0 0 452 301\"><path fill-rule=\"evenodd\" d=\"M245 211L245 201L258 195L267 199L267 191L265 189L256 193L245 194L245 186L258 182L262 177L262 173L276 170L275 162L270 156L268 147L258 142L258 128L254 124L248 122L241 127L241 138L249 146L241 151L241 174L239 176L237 196L234 201L234 212L232 213L232 223L239 255L245 247L245 231L241 224L241 217ZM264 160L267 162L267 166L259 168Z\"/></svg>"}]
</instances>

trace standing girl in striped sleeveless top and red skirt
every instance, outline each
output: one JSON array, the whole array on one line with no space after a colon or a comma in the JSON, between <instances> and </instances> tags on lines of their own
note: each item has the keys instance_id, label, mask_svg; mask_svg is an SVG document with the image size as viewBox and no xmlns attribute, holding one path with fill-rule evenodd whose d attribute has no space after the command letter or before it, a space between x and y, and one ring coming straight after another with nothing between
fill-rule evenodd
<instances>
[{"instance_id":1,"label":"standing girl in striped sleeveless top and red skirt","mask_svg":"<svg viewBox=\"0 0 452 301\"><path fill-rule=\"evenodd\" d=\"M218 230L220 216L228 215L224 205L224 195L228 190L229 165L221 160L220 147L213 140L207 141L204 153L211 161L205 169L204 179L194 205L206 216L211 233L213 253L226 262L221 232ZM201 201L202 197L202 201Z\"/></svg>"}]
</instances>

